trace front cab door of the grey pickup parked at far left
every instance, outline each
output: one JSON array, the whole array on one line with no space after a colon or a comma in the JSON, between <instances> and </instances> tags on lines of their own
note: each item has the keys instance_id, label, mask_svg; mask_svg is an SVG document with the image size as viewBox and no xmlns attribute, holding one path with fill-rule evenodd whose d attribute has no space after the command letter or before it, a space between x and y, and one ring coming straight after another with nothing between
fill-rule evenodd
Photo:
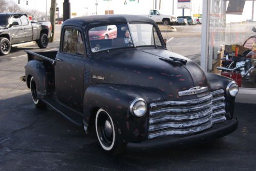
<instances>
[{"instance_id":1,"label":"front cab door of the grey pickup parked at far left","mask_svg":"<svg viewBox=\"0 0 256 171\"><path fill-rule=\"evenodd\" d=\"M25 42L25 30L19 15L13 15L9 22L11 44Z\"/></svg>"}]
</instances>

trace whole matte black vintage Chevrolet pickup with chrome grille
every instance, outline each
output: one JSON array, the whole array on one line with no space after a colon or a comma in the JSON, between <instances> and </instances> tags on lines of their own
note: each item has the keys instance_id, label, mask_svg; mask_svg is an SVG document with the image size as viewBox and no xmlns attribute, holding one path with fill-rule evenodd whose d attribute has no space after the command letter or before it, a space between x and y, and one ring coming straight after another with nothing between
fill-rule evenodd
<instances>
[{"instance_id":1,"label":"whole matte black vintage Chevrolet pickup with chrome grille","mask_svg":"<svg viewBox=\"0 0 256 171\"><path fill-rule=\"evenodd\" d=\"M115 36L89 36L102 26L115 29ZM237 83L169 52L150 18L68 19L58 51L26 52L26 76L20 79L36 107L51 106L86 133L96 131L105 152L121 153L127 144L198 144L238 127Z\"/></svg>"}]
</instances>

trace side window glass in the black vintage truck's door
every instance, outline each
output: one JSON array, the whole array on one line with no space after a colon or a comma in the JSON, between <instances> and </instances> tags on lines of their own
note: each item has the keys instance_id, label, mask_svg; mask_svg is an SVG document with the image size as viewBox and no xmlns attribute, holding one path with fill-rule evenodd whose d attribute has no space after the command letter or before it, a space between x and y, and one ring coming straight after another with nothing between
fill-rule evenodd
<instances>
[{"instance_id":1,"label":"side window glass in the black vintage truck's door","mask_svg":"<svg viewBox=\"0 0 256 171\"><path fill-rule=\"evenodd\" d=\"M65 30L62 51L69 54L84 54L82 36L78 30Z\"/></svg>"}]
</instances>

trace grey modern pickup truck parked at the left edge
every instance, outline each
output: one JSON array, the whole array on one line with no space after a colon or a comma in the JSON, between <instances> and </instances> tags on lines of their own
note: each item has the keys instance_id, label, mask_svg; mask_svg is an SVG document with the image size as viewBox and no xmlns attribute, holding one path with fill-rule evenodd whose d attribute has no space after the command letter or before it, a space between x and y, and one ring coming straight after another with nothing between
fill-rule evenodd
<instances>
[{"instance_id":1,"label":"grey modern pickup truck parked at the left edge","mask_svg":"<svg viewBox=\"0 0 256 171\"><path fill-rule=\"evenodd\" d=\"M24 13L0 13L0 55L7 55L11 46L36 41L40 48L46 48L51 36L50 22L31 22Z\"/></svg>"}]
</instances>

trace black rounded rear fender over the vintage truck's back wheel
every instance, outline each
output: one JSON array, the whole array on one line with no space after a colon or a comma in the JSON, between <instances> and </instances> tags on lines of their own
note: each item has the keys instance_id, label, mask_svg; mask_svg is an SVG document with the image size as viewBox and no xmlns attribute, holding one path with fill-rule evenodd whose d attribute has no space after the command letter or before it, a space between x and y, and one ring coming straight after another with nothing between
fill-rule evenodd
<instances>
[{"instance_id":1,"label":"black rounded rear fender over the vintage truck's back wheel","mask_svg":"<svg viewBox=\"0 0 256 171\"><path fill-rule=\"evenodd\" d=\"M30 88L31 77L36 83L37 94L39 98L51 94L54 90L54 70L53 66L44 61L31 60L26 65L26 82Z\"/></svg>"}]
</instances>

